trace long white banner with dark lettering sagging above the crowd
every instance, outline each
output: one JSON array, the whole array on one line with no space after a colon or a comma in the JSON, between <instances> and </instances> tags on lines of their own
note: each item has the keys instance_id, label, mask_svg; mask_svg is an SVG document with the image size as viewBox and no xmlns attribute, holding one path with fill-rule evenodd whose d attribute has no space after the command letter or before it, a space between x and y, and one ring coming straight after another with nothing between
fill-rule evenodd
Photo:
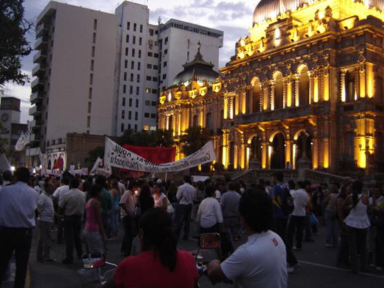
<instances>
[{"instance_id":1,"label":"long white banner with dark lettering sagging above the crowd","mask_svg":"<svg viewBox=\"0 0 384 288\"><path fill-rule=\"evenodd\" d=\"M190 169L201 164L210 163L214 160L216 160L216 153L215 149L213 148L212 141L209 141L198 151L185 157L182 160L165 164L155 164L123 148L122 146L119 146L111 139L106 137L104 164L106 171L108 172L111 171L111 166L132 171L143 171L151 173L177 172Z\"/></svg>"}]
</instances>

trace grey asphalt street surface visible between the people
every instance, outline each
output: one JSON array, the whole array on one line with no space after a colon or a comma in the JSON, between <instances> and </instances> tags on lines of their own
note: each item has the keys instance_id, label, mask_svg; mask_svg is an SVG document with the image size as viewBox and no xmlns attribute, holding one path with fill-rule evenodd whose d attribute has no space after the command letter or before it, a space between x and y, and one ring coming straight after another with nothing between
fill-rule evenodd
<instances>
[{"instance_id":1,"label":"grey asphalt street surface visible between the people","mask_svg":"<svg viewBox=\"0 0 384 288\"><path fill-rule=\"evenodd\" d=\"M315 242L303 243L303 251L295 251L300 265L294 273L289 274L289 288L384 288L384 272L352 274L349 271L334 267L337 249L325 248L325 229L320 227L320 234L314 235ZM52 258L57 262L41 264L36 262L37 231L34 231L32 251L30 256L30 275L32 288L97 288L99 285L89 284L81 269L80 260L72 265L64 265L61 260L65 258L65 244L53 244ZM52 238L56 238L56 231L52 231ZM119 254L120 238L116 242L108 242L107 258L110 262L119 263L123 256ZM242 242L244 242L244 236ZM241 244L241 241L238 242ZM197 248L196 240L180 240L180 249L194 251ZM110 269L104 267L103 271ZM209 280L202 276L201 287L224 288L231 285L220 283L211 285Z\"/></svg>"}]
</instances>

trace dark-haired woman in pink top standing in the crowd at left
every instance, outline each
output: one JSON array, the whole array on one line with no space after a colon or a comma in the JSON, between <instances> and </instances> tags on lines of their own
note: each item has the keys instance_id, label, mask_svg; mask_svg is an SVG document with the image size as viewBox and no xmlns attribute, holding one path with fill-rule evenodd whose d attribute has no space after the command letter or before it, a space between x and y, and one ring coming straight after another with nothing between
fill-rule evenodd
<instances>
[{"instance_id":1,"label":"dark-haired woman in pink top standing in the crowd at left","mask_svg":"<svg viewBox=\"0 0 384 288\"><path fill-rule=\"evenodd\" d=\"M93 185L88 191L90 199L86 203L86 223L83 231L83 240L88 247L88 253L104 253L106 233L102 222L102 205L99 199L102 197L103 187ZM90 282L100 280L100 269L89 270Z\"/></svg>"}]
</instances>

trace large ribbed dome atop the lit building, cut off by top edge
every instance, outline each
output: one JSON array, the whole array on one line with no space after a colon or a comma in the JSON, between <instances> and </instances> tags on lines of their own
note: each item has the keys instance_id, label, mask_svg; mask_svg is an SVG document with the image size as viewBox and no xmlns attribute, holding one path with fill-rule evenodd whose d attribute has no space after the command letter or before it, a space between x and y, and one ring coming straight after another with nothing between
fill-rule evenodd
<instances>
[{"instance_id":1,"label":"large ribbed dome atop the lit building, cut off by top edge","mask_svg":"<svg viewBox=\"0 0 384 288\"><path fill-rule=\"evenodd\" d=\"M253 12L253 24L274 18L287 10L294 11L305 3L316 0L261 0ZM351 0L353 1L353 0ZM375 7L384 12L384 0L362 0L367 7Z\"/></svg>"}]
</instances>

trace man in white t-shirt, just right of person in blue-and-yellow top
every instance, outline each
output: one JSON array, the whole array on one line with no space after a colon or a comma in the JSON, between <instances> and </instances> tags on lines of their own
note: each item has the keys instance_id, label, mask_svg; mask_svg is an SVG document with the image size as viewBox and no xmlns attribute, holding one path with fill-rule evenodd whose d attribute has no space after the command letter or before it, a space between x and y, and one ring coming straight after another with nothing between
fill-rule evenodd
<instances>
[{"instance_id":1,"label":"man in white t-shirt, just right of person in blue-and-yellow top","mask_svg":"<svg viewBox=\"0 0 384 288\"><path fill-rule=\"evenodd\" d=\"M305 183L298 181L298 190L295 190L295 183L289 180L289 193L291 193L294 199L294 211L291 213L289 223L287 227L287 241L289 246L293 247L294 244L294 233L296 230L296 247L295 250L301 250L301 244L303 243L303 231L305 223L305 215L307 209L308 195L305 191Z\"/></svg>"}]
</instances>

